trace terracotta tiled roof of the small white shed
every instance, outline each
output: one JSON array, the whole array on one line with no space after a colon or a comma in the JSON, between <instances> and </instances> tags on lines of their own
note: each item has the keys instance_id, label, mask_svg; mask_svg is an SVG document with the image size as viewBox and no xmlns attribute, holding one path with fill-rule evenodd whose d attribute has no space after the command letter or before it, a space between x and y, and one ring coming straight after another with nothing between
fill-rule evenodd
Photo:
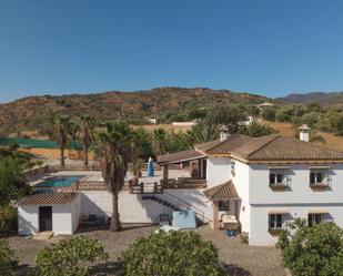
<instances>
[{"instance_id":1,"label":"terracotta tiled roof of the small white shed","mask_svg":"<svg viewBox=\"0 0 343 276\"><path fill-rule=\"evenodd\" d=\"M42 193L29 195L24 198L21 198L18 202L18 205L60 205L60 204L71 204L79 193Z\"/></svg>"}]
</instances>

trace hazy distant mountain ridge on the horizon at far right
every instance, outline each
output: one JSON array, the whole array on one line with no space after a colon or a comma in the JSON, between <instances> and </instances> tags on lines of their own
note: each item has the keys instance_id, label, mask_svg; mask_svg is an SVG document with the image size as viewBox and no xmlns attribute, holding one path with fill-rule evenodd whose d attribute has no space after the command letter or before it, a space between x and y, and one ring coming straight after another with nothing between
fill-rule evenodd
<instances>
[{"instance_id":1,"label":"hazy distant mountain ridge on the horizon at far right","mask_svg":"<svg viewBox=\"0 0 343 276\"><path fill-rule=\"evenodd\" d=\"M343 104L343 92L311 92L305 94L291 93L276 101L284 103L321 103L321 104Z\"/></svg>"}]
</instances>

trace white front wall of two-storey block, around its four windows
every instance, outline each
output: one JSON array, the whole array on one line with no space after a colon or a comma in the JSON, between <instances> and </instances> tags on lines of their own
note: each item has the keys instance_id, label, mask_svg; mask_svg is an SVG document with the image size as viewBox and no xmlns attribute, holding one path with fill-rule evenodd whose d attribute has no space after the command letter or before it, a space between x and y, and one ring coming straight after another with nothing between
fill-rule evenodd
<instances>
[{"instance_id":1,"label":"white front wall of two-storey block, around its four windows","mask_svg":"<svg viewBox=\"0 0 343 276\"><path fill-rule=\"evenodd\" d=\"M343 227L343 165L331 164L329 174L331 186L327 190L313 191L309 186L307 164L292 164L286 174L290 186L285 191L273 191L269 186L270 170L266 164L250 164L249 203L250 244L274 245L278 236L268 232L269 212L289 212L287 219L307 218L309 211L327 212L327 217Z\"/></svg>"}]
</instances>

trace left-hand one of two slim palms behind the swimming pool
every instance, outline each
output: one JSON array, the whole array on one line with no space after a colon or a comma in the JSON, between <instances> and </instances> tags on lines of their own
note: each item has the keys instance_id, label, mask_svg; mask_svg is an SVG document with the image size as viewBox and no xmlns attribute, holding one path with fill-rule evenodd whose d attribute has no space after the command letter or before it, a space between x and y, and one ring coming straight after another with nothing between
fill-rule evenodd
<instances>
[{"instance_id":1,"label":"left-hand one of two slim palms behind the swimming pool","mask_svg":"<svg viewBox=\"0 0 343 276\"><path fill-rule=\"evenodd\" d=\"M64 149L68 143L68 134L70 129L70 117L67 115L58 116L54 120L54 136L60 147L60 164L64 166Z\"/></svg>"}]
</instances>

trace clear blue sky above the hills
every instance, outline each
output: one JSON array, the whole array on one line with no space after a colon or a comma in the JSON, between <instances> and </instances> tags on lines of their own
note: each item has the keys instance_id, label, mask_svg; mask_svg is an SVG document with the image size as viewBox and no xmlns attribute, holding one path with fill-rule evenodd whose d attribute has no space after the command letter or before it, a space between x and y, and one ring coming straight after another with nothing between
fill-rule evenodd
<instances>
[{"instance_id":1,"label":"clear blue sky above the hills","mask_svg":"<svg viewBox=\"0 0 343 276\"><path fill-rule=\"evenodd\" d=\"M0 0L0 102L206 86L343 91L343 1Z\"/></svg>"}]
</instances>

